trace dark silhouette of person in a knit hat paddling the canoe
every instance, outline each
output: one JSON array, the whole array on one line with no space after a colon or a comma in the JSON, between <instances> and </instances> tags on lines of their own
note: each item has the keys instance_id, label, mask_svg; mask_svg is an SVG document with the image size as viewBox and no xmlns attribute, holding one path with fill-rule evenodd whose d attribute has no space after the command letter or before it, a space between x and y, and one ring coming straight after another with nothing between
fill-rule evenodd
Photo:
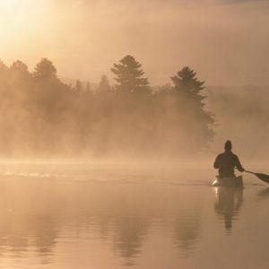
<instances>
[{"instance_id":1,"label":"dark silhouette of person in a knit hat paddling the canoe","mask_svg":"<svg viewBox=\"0 0 269 269\"><path fill-rule=\"evenodd\" d=\"M228 140L225 143L225 152L219 154L214 162L214 168L219 169L220 178L235 177L234 169L239 169L243 172L244 169L239 161L239 157L231 152L231 142Z\"/></svg>"}]
</instances>

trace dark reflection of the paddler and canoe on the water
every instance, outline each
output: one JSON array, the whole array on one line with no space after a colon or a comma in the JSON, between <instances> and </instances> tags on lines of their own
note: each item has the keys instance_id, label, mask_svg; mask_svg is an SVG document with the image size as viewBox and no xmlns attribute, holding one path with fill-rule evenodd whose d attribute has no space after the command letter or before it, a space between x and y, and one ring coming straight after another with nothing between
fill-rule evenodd
<instances>
[{"instance_id":1,"label":"dark reflection of the paddler and canoe on the water","mask_svg":"<svg viewBox=\"0 0 269 269\"><path fill-rule=\"evenodd\" d=\"M215 212L223 217L226 230L231 230L232 221L243 204L243 188L216 187L216 196Z\"/></svg>"}]
</instances>

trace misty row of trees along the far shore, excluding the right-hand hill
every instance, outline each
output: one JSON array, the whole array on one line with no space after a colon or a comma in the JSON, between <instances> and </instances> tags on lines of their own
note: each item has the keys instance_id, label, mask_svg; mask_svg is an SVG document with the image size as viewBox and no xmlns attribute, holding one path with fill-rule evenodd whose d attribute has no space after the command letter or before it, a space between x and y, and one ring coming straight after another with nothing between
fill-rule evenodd
<instances>
[{"instance_id":1,"label":"misty row of trees along the far shore, excluding the right-hand hill","mask_svg":"<svg viewBox=\"0 0 269 269\"><path fill-rule=\"evenodd\" d=\"M102 76L93 91L89 82L62 82L47 58L33 72L22 61L0 62L1 154L178 155L213 141L214 117L194 70L183 67L157 88L134 56L111 72L115 85Z\"/></svg>"}]
</instances>

